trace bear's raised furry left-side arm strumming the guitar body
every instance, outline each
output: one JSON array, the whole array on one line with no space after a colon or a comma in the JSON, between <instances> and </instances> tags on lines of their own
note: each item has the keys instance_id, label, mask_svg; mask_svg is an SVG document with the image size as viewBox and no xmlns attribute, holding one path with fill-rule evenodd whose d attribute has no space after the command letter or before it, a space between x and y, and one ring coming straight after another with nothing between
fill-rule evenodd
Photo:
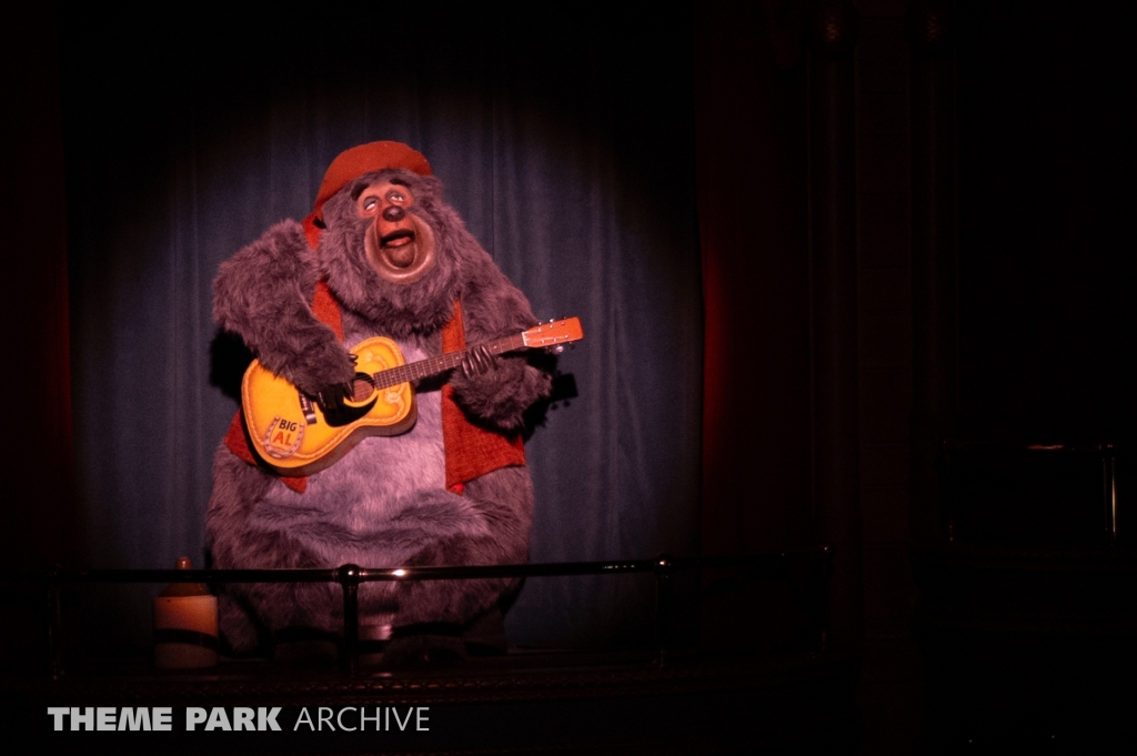
<instances>
[{"instance_id":1,"label":"bear's raised furry left-side arm strumming the guitar body","mask_svg":"<svg viewBox=\"0 0 1137 756\"><path fill-rule=\"evenodd\" d=\"M302 226L284 221L222 263L214 279L214 321L241 337L264 367L312 394L355 375L309 306L317 276Z\"/></svg>"}]
</instances>

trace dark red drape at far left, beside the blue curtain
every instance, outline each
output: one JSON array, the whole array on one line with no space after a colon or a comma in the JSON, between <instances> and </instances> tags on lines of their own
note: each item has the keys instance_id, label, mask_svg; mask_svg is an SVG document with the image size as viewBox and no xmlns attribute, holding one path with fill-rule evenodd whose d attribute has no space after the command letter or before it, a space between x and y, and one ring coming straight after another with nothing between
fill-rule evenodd
<instances>
[{"instance_id":1,"label":"dark red drape at far left, beside the blue curtain","mask_svg":"<svg viewBox=\"0 0 1137 756\"><path fill-rule=\"evenodd\" d=\"M0 564L66 559L74 533L67 234L53 3L6 3L5 455Z\"/></svg>"}]
</instances>

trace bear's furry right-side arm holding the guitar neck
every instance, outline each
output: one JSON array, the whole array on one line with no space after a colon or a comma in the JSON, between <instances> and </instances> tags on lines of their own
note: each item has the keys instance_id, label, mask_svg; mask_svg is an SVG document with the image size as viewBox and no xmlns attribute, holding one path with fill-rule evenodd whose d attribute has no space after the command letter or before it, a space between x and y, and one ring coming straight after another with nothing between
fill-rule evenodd
<instances>
[{"instance_id":1,"label":"bear's furry right-side arm holding the guitar neck","mask_svg":"<svg viewBox=\"0 0 1137 756\"><path fill-rule=\"evenodd\" d=\"M525 296L488 256L480 267L462 296L466 342L476 344L532 327L537 318ZM522 414L549 394L551 382L551 376L530 364L524 352L499 356L496 369L481 375L467 377L455 371L450 377L458 404L503 431L521 430Z\"/></svg>"}]
</instances>

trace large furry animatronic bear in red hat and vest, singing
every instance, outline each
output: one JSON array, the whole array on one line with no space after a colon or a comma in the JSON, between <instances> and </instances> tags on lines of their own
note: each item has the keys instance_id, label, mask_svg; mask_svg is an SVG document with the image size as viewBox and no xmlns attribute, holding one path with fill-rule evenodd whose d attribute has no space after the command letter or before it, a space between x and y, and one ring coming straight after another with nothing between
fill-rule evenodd
<instances>
[{"instance_id":1,"label":"large furry animatronic bear in red hat and vest, singing","mask_svg":"<svg viewBox=\"0 0 1137 756\"><path fill-rule=\"evenodd\" d=\"M264 368L326 408L343 406L356 375L348 349L370 337L392 339L409 364L536 323L525 297L443 203L426 159L397 142L341 153L302 225L284 221L222 264L214 318ZM448 375L417 385L409 431L365 438L306 477L279 475L250 452L239 414L214 462L215 566L525 560L533 488L522 413L549 388L548 372L524 354L472 349ZM496 610L509 585L364 583L360 638L383 638L387 626L399 638L402 629L468 625ZM335 584L254 583L221 596L222 633L235 651L332 638L341 623Z\"/></svg>"}]
</instances>

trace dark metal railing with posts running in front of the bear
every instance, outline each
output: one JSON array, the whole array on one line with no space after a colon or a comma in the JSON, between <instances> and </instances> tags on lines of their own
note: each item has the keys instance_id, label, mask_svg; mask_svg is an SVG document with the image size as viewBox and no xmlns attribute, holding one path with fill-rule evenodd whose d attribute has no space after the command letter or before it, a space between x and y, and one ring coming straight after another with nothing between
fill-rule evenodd
<instances>
[{"instance_id":1,"label":"dark metal railing with posts running in front of the bear","mask_svg":"<svg viewBox=\"0 0 1137 756\"><path fill-rule=\"evenodd\" d=\"M455 567L360 567L346 564L331 570L66 570L8 571L0 580L41 583L47 595L48 673L60 679L66 673L64 654L64 613L61 593L75 583L292 583L334 582L343 591L343 671L359 672L359 585L367 582L417 580L478 580L487 578L539 578L572 575L655 575L655 663L664 664L670 651L669 625L674 603L674 576L678 572L705 568L744 568L750 576L785 576L789 567L808 566L805 609L814 620L813 631L820 650L824 649L829 624L829 584L832 549L828 546L775 551L750 556L672 557L621 559L611 562L563 562L546 564L505 564Z\"/></svg>"}]
</instances>

